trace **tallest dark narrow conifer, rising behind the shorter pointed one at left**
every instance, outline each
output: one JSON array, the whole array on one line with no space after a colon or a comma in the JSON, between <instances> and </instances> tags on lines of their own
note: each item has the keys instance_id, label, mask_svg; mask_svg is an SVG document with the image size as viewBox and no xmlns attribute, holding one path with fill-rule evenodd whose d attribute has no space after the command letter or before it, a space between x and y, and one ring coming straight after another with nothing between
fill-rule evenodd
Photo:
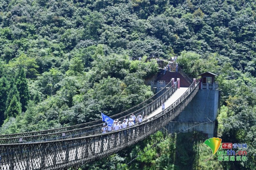
<instances>
[{"instance_id":1,"label":"tallest dark narrow conifer, rising behind the shorter pointed one at left","mask_svg":"<svg viewBox=\"0 0 256 170\"><path fill-rule=\"evenodd\" d=\"M28 105L30 99L30 95L28 91L28 80L26 78L26 73L23 68L20 69L20 72L16 73L15 80L17 89L20 93L20 103L22 108L21 110L25 112L26 106Z\"/></svg>"}]
</instances>

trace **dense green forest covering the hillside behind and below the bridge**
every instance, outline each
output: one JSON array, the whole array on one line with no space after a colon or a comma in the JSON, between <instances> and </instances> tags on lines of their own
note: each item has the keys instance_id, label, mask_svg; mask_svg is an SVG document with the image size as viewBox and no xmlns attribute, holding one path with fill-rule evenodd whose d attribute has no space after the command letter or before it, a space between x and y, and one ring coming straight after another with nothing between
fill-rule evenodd
<instances>
[{"instance_id":1,"label":"dense green forest covering the hillside behind and below the bridge","mask_svg":"<svg viewBox=\"0 0 256 170\"><path fill-rule=\"evenodd\" d=\"M204 162L200 134L158 132L81 168L255 169L255 21L254 0L0 0L0 133L120 113L153 95L147 58L178 56L193 78L219 75L218 137L247 143L248 160Z\"/></svg>"}]
</instances>

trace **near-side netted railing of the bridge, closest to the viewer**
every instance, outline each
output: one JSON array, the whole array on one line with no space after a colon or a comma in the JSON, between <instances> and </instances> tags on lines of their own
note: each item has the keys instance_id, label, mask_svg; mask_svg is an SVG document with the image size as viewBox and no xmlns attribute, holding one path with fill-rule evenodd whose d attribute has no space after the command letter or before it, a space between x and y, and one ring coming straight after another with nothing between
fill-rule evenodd
<instances>
[{"instance_id":1,"label":"near-side netted railing of the bridge, closest to the viewer","mask_svg":"<svg viewBox=\"0 0 256 170\"><path fill-rule=\"evenodd\" d=\"M188 90L170 107L158 115L129 128L105 134L58 141L0 144L1 169L66 169L102 159L164 127L188 105L198 91L192 83Z\"/></svg>"}]
</instances>

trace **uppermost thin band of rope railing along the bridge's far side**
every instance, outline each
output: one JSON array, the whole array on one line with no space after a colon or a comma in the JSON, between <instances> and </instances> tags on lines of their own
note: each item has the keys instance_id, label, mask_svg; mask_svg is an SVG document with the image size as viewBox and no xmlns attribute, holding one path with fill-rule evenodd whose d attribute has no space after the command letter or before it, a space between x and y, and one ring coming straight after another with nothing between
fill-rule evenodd
<instances>
[{"instance_id":1,"label":"uppermost thin band of rope railing along the bridge's far side","mask_svg":"<svg viewBox=\"0 0 256 170\"><path fill-rule=\"evenodd\" d=\"M117 119L119 117L123 117L124 115L129 115L136 110L147 106L149 103L152 101L156 100L160 95L162 95L164 92L166 92L170 87L172 86L172 83L168 83L163 89L161 89L159 92L157 92L155 95L150 97L149 99L143 101L142 103L125 110L124 112L118 113L116 115L110 116L112 119ZM49 133L56 133L56 132L62 132L62 131L68 131L72 129L80 129L84 127L90 127L93 125L97 125L102 123L102 119L92 121L92 122L87 122L87 123L82 123L78 125L73 125L73 126L67 126L67 127L62 127L62 128L56 128L56 129L48 129L48 130L41 130L41 131L33 131L33 132L25 132L25 133L16 133L16 134L6 134L6 135L0 135L1 138L10 138L10 137L24 137L24 136L34 136L34 135L42 135L42 134L49 134Z\"/></svg>"}]
</instances>

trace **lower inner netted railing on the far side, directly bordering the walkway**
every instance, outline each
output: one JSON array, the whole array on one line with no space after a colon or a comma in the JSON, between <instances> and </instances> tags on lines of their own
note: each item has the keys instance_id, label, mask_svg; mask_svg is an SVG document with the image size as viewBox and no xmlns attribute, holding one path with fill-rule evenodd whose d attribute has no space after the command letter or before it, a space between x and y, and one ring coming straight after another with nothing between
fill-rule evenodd
<instances>
[{"instance_id":1,"label":"lower inner netted railing on the far side, directly bordering the walkway","mask_svg":"<svg viewBox=\"0 0 256 170\"><path fill-rule=\"evenodd\" d=\"M161 107L162 103L168 100L172 94L177 90L177 82L175 82L167 91L165 91L162 95L160 95L156 100L152 101L148 105L132 112L136 117L138 115L150 115L156 109ZM119 120L123 120L125 117L130 117L130 115L123 115L122 117L118 117ZM93 125L90 127L84 127L79 129L72 129L68 131L55 132L49 134L40 134L33 136L25 136L25 137L11 137L11 138L1 138L0 144L14 144L14 143L31 143L31 142L44 142L44 141L52 141L52 140L61 140L68 138L76 138L76 137L84 137L89 135L100 134L102 128L102 123L97 125Z\"/></svg>"}]
</instances>

